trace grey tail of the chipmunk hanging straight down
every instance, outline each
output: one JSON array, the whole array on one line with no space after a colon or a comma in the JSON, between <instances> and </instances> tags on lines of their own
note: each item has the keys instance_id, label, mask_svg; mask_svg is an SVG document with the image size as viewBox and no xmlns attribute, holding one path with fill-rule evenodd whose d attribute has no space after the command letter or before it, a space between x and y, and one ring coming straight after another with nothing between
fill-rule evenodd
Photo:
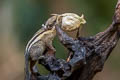
<instances>
[{"instance_id":1,"label":"grey tail of the chipmunk hanging straight down","mask_svg":"<svg viewBox=\"0 0 120 80\"><path fill-rule=\"evenodd\" d=\"M25 80L30 80L29 54L25 52Z\"/></svg>"}]
</instances>

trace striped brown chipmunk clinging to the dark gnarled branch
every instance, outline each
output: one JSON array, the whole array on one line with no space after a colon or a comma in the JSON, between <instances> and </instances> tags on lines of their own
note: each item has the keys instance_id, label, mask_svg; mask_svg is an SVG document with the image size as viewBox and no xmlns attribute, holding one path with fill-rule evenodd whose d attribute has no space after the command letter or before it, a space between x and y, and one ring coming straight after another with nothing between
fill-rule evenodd
<instances>
[{"instance_id":1,"label":"striped brown chipmunk clinging to the dark gnarled branch","mask_svg":"<svg viewBox=\"0 0 120 80\"><path fill-rule=\"evenodd\" d=\"M30 80L31 75L34 79L36 72L34 72L34 66L39 58L45 54L45 51L54 56L56 52L55 48L52 46L52 41L56 36L56 30L54 23L57 16L52 16L47 20L45 25L42 25L42 28L39 29L33 37L28 42L25 49L25 80ZM36 79L34 79L36 80Z\"/></svg>"}]
</instances>

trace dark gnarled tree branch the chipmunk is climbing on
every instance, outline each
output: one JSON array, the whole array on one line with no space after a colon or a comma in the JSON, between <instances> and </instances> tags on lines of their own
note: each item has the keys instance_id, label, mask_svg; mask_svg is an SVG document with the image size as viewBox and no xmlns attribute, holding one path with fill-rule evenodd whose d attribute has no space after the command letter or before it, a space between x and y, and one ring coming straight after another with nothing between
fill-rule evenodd
<instances>
[{"instance_id":1,"label":"dark gnarled tree branch the chipmunk is climbing on","mask_svg":"<svg viewBox=\"0 0 120 80\"><path fill-rule=\"evenodd\" d=\"M38 76L38 80L92 80L97 72L102 71L120 38L120 0L116 5L113 22L104 32L74 40L61 30L60 24L56 24L56 31L61 43L74 55L69 62L46 56L41 64L50 74Z\"/></svg>"}]
</instances>

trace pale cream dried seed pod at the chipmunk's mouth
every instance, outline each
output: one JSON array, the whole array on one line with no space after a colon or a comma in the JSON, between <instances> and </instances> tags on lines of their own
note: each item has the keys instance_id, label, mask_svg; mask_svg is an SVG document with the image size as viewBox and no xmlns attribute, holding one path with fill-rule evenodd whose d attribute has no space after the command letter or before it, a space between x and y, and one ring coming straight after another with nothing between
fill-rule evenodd
<instances>
[{"instance_id":1,"label":"pale cream dried seed pod at the chipmunk's mouth","mask_svg":"<svg viewBox=\"0 0 120 80\"><path fill-rule=\"evenodd\" d=\"M82 24L86 23L84 15L78 16L74 13L64 13L60 15L62 17L61 28L66 31L73 31L81 28Z\"/></svg>"}]
</instances>

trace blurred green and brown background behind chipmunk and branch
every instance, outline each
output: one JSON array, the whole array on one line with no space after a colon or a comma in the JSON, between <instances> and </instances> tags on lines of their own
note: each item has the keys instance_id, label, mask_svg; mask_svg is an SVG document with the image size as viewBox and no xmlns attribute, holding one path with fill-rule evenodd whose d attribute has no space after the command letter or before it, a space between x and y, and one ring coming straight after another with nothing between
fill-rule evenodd
<instances>
[{"instance_id":1,"label":"blurred green and brown background behind chipmunk and branch","mask_svg":"<svg viewBox=\"0 0 120 80\"><path fill-rule=\"evenodd\" d=\"M81 36L92 36L112 21L117 0L0 0L0 80L24 79L24 50L32 35L52 13L84 14ZM55 38L56 56L67 50ZM94 80L120 80L120 41ZM39 65L40 66L40 65ZM42 74L48 73L40 66Z\"/></svg>"}]
</instances>

